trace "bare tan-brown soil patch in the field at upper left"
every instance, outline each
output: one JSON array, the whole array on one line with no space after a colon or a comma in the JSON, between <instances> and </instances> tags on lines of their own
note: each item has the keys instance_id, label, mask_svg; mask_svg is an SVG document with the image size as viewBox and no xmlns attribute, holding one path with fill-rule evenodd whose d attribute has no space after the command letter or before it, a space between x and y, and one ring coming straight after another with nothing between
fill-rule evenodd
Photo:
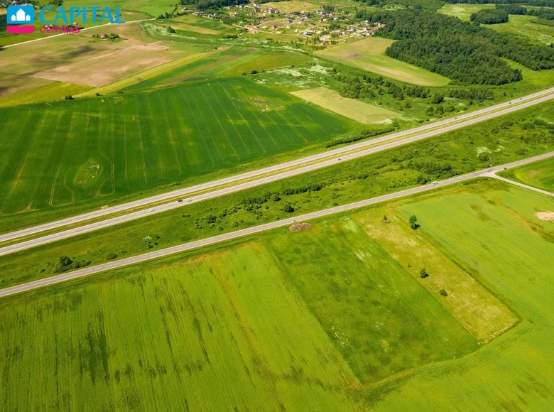
<instances>
[{"instance_id":1,"label":"bare tan-brown soil patch in the field at upper left","mask_svg":"<svg viewBox=\"0 0 554 412\"><path fill-rule=\"evenodd\" d=\"M162 42L135 44L78 63L38 72L33 77L99 87L174 60L174 54Z\"/></svg>"}]
</instances>

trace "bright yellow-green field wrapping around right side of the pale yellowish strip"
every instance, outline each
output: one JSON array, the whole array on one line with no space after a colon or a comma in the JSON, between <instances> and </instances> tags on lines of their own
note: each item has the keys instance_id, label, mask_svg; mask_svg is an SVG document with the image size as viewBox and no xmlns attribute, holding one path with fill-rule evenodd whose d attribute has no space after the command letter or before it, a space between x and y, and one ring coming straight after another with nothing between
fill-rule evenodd
<instances>
[{"instance_id":1,"label":"bright yellow-green field wrapping around right side of the pale yellowish strip","mask_svg":"<svg viewBox=\"0 0 554 412\"><path fill-rule=\"evenodd\" d=\"M553 208L547 196L492 180L398 205L402 219L417 215L425 238L523 320L467 357L374 389L367 397L374 410L550 409L554 224L534 214Z\"/></svg>"}]
</instances>

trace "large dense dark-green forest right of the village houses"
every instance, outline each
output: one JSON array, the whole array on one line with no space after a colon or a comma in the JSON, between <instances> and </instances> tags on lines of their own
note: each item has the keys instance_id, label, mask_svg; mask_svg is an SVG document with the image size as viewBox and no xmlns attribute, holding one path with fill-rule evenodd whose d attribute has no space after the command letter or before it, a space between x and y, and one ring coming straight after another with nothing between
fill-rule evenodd
<instances>
[{"instance_id":1,"label":"large dense dark-green forest right of the village houses","mask_svg":"<svg viewBox=\"0 0 554 412\"><path fill-rule=\"evenodd\" d=\"M406 9L381 13L358 11L357 18L384 23L376 36L401 40L386 50L391 58L460 82L503 85L521 80L521 72L509 67L501 58L514 60L532 70L554 67L553 48L456 17Z\"/></svg>"}]
</instances>

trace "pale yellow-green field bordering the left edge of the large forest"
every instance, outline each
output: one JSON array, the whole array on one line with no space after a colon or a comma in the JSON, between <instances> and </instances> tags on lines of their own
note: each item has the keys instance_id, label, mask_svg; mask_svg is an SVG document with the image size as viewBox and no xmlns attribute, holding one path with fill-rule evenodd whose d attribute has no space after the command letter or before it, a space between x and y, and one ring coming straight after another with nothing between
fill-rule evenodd
<instances>
[{"instance_id":1,"label":"pale yellow-green field bordering the left edge of the large forest","mask_svg":"<svg viewBox=\"0 0 554 412\"><path fill-rule=\"evenodd\" d=\"M384 55L392 43L393 40L386 38L370 37L335 45L315 54L415 85L445 86L450 82L447 77Z\"/></svg>"}]
</instances>

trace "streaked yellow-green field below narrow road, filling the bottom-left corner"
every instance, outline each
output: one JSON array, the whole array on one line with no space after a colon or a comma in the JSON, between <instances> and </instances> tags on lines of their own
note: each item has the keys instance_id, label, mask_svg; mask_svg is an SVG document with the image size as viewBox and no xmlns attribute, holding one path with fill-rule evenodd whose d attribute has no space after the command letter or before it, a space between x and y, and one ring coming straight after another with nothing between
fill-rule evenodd
<instances>
[{"instance_id":1,"label":"streaked yellow-green field below narrow road, filling the bottom-left corner","mask_svg":"<svg viewBox=\"0 0 554 412\"><path fill-rule=\"evenodd\" d=\"M0 302L5 411L353 407L356 376L260 247L19 303Z\"/></svg>"}]
</instances>

